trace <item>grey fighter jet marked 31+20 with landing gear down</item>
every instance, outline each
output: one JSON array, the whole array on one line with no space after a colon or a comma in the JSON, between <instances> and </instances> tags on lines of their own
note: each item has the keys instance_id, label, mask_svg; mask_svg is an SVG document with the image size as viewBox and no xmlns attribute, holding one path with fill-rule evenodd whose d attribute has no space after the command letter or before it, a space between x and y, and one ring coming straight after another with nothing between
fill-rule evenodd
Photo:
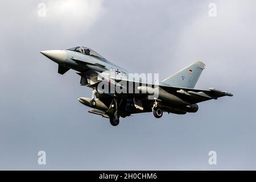
<instances>
[{"instance_id":1,"label":"grey fighter jet marked 31+20 with landing gear down","mask_svg":"<svg viewBox=\"0 0 256 182\"><path fill-rule=\"evenodd\" d=\"M199 102L233 96L232 93L214 88L195 89L205 68L201 61L188 65L163 81L147 82L141 78L128 77L131 72L111 63L90 48L40 52L58 64L58 73L61 75L73 69L81 76L80 85L92 88L93 92L91 98L78 98L79 102L93 108L89 113L109 118L112 126L119 124L119 117L137 113L152 112L155 118L161 118L163 113L196 113Z\"/></svg>"}]
</instances>

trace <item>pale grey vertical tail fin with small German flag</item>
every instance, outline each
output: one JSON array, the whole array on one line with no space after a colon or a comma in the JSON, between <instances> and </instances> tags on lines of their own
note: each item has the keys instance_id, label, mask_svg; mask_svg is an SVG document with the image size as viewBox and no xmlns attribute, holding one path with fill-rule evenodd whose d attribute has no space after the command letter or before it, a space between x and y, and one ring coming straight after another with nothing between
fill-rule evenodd
<instances>
[{"instance_id":1,"label":"pale grey vertical tail fin with small German flag","mask_svg":"<svg viewBox=\"0 0 256 182\"><path fill-rule=\"evenodd\" d=\"M199 79L205 64L201 61L196 61L191 65L181 69L179 72L174 73L164 79L162 82L171 86L179 86L183 88L195 88L196 82Z\"/></svg>"}]
</instances>

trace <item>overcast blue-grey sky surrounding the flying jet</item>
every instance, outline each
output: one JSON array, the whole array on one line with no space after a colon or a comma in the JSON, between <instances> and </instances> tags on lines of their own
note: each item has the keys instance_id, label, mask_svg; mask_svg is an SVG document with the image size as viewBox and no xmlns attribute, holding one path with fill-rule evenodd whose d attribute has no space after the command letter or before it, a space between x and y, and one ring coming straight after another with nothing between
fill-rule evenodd
<instances>
[{"instance_id":1,"label":"overcast blue-grey sky surrounding the flying jet","mask_svg":"<svg viewBox=\"0 0 256 182\"><path fill-rule=\"evenodd\" d=\"M256 169L255 7L253 0L1 1L0 169ZM201 103L196 114L138 114L112 127L77 101L92 92L79 76L57 74L39 53L75 46L160 78L200 60L206 68L196 88L234 97ZM208 164L212 150L216 166Z\"/></svg>"}]
</instances>

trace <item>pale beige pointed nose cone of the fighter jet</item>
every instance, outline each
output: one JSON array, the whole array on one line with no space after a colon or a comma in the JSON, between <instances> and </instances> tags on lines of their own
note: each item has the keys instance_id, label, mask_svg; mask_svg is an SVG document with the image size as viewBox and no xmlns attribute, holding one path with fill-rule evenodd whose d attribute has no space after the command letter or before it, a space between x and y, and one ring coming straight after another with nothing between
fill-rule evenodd
<instances>
[{"instance_id":1,"label":"pale beige pointed nose cone of the fighter jet","mask_svg":"<svg viewBox=\"0 0 256 182\"><path fill-rule=\"evenodd\" d=\"M40 51L44 56L53 60L58 64L62 64L67 60L67 53L63 50L50 50L50 51Z\"/></svg>"}]
</instances>

